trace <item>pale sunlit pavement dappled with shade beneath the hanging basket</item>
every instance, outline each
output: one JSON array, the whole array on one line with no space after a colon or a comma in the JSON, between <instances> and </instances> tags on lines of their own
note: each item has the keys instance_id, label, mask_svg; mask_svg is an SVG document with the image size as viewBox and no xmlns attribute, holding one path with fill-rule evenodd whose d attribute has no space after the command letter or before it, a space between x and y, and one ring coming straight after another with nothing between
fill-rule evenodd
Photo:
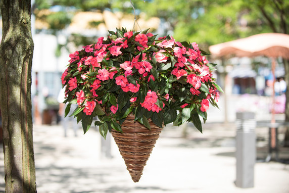
<instances>
[{"instance_id":1,"label":"pale sunlit pavement dappled with shade beneath the hanging basket","mask_svg":"<svg viewBox=\"0 0 289 193\"><path fill-rule=\"evenodd\" d=\"M190 126L190 125L189 125ZM188 126L165 128L143 175L134 183L113 139L112 159L102 158L101 138L93 127L78 137L64 137L61 126L34 126L37 192L289 192L289 165L255 164L255 186L237 188L233 124L207 123L204 133ZM3 147L0 152L0 192L5 191Z\"/></svg>"}]
</instances>

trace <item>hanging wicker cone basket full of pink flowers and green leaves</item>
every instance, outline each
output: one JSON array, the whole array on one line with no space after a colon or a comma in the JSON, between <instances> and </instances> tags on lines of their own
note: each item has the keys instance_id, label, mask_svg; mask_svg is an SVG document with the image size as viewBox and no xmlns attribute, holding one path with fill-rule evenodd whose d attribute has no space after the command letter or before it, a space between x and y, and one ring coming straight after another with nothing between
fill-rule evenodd
<instances>
[{"instance_id":1,"label":"hanging wicker cone basket full of pink flowers and green leaves","mask_svg":"<svg viewBox=\"0 0 289 193\"><path fill-rule=\"evenodd\" d=\"M71 116L84 133L93 124L103 137L112 135L133 181L138 181L164 125L192 122L202 132L209 104L217 107L222 89L197 43L156 39L148 30L125 29L70 54L62 75Z\"/></svg>"}]
</instances>

